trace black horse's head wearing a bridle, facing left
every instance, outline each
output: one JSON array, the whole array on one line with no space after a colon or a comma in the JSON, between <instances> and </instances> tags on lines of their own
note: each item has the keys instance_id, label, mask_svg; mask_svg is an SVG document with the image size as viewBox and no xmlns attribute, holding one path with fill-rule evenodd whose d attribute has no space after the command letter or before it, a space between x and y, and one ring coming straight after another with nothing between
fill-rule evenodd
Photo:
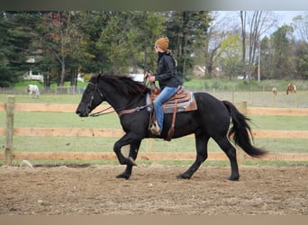
<instances>
[{"instance_id":1,"label":"black horse's head wearing a bridle, facing left","mask_svg":"<svg viewBox=\"0 0 308 225\"><path fill-rule=\"evenodd\" d=\"M76 113L80 117L86 117L92 112L97 105L102 103L104 99L104 94L101 93L98 87L98 82L101 77L101 74L93 75L88 85L86 85L86 90L82 95L81 101L78 104Z\"/></svg>"}]
</instances>

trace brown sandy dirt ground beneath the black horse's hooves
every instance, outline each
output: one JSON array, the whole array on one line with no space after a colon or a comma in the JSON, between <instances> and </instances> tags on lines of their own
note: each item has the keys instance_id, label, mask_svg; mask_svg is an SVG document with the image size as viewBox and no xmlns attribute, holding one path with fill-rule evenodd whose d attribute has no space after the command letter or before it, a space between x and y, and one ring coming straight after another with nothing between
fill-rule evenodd
<instances>
[{"instance_id":1,"label":"brown sandy dirt ground beneath the black horse's hooves","mask_svg":"<svg viewBox=\"0 0 308 225\"><path fill-rule=\"evenodd\" d=\"M0 166L0 215L307 215L307 166Z\"/></svg>"}]
</instances>

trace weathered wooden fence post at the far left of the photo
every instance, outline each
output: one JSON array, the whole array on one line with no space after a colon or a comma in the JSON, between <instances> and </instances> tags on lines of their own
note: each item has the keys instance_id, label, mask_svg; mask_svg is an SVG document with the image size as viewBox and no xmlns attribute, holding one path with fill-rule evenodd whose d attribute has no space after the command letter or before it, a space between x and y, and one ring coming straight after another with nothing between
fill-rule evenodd
<instances>
[{"instance_id":1,"label":"weathered wooden fence post at the far left of the photo","mask_svg":"<svg viewBox=\"0 0 308 225\"><path fill-rule=\"evenodd\" d=\"M13 133L14 133L14 95L7 96L6 103L6 129L5 129L5 165L11 166L13 159Z\"/></svg>"}]
</instances>

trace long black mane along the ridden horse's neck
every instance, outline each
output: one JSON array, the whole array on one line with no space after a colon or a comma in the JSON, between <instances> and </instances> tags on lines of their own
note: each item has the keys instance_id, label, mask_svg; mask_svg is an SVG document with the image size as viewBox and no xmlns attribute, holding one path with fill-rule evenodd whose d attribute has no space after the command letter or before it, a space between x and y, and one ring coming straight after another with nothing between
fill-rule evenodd
<instances>
[{"instance_id":1,"label":"long black mane along the ridden horse's neck","mask_svg":"<svg viewBox=\"0 0 308 225\"><path fill-rule=\"evenodd\" d=\"M121 94L143 95L149 93L150 91L146 85L132 80L129 76L104 74L100 77L104 82L113 85Z\"/></svg>"}]
</instances>

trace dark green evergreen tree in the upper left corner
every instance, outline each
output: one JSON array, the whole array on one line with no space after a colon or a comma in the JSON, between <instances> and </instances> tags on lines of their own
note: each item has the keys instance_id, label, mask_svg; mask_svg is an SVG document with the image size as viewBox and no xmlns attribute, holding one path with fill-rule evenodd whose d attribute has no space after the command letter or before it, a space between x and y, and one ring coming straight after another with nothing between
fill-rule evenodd
<instances>
[{"instance_id":1,"label":"dark green evergreen tree in the upper left corner","mask_svg":"<svg viewBox=\"0 0 308 225\"><path fill-rule=\"evenodd\" d=\"M29 69L36 12L0 12L0 86L9 86Z\"/></svg>"}]
</instances>

